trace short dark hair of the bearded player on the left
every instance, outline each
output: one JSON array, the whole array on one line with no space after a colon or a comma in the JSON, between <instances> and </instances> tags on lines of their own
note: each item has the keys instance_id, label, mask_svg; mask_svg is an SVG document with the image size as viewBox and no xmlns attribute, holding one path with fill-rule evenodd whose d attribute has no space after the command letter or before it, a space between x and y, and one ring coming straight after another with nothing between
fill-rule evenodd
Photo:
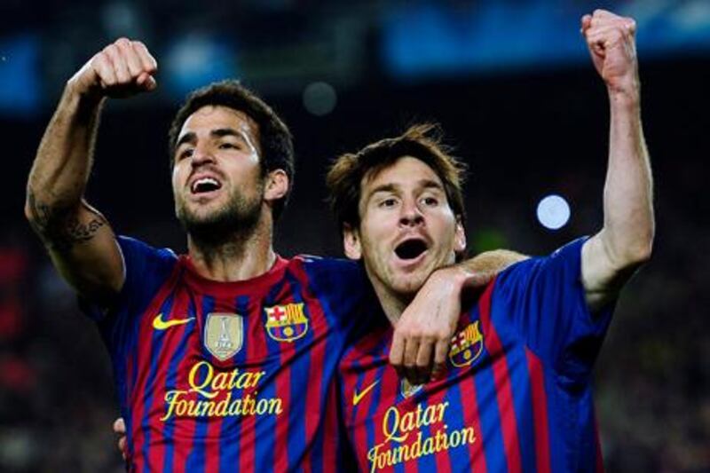
<instances>
[{"instance_id":1,"label":"short dark hair of the bearded player on the left","mask_svg":"<svg viewBox=\"0 0 710 473\"><path fill-rule=\"evenodd\" d=\"M231 79L211 83L190 93L170 124L168 149L171 165L175 162L177 138L185 120L203 106L226 106L238 110L258 125L262 176L274 169L283 169L288 176L288 192L273 204L273 217L277 219L286 206L294 183L294 145L288 126L271 106L239 81Z\"/></svg>"}]
</instances>

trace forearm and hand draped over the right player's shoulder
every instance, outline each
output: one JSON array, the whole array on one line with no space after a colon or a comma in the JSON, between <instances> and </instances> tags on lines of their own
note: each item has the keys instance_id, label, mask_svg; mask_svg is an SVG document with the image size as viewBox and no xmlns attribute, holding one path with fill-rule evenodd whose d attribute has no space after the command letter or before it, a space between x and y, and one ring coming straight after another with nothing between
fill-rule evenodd
<instances>
[{"instance_id":1,"label":"forearm and hand draped over the right player's shoulder","mask_svg":"<svg viewBox=\"0 0 710 473\"><path fill-rule=\"evenodd\" d=\"M485 288L496 274L526 258L515 251L497 249L432 272L397 322L390 364L415 384L443 372L461 315L462 293Z\"/></svg>"}]
</instances>

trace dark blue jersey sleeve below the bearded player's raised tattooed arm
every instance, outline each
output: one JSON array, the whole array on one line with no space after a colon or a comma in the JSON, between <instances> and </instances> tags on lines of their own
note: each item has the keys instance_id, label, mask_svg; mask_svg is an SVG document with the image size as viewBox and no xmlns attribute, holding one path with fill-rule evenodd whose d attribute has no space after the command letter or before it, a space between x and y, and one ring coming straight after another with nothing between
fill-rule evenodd
<instances>
[{"instance_id":1,"label":"dark blue jersey sleeve below the bearded player's raised tattooed arm","mask_svg":"<svg viewBox=\"0 0 710 473\"><path fill-rule=\"evenodd\" d=\"M143 241L119 236L125 280L114 304L109 308L80 301L83 312L101 325L111 325L115 319L140 313L168 278L177 256L170 249L156 249Z\"/></svg>"}]
</instances>

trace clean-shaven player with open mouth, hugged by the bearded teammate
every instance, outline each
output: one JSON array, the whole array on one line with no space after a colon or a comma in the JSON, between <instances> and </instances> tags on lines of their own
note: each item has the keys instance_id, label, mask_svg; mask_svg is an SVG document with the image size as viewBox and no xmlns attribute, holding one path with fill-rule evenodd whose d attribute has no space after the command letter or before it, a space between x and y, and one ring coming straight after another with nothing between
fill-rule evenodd
<instances>
[{"instance_id":1,"label":"clean-shaven player with open mouth, hugged by the bearded teammate","mask_svg":"<svg viewBox=\"0 0 710 473\"><path fill-rule=\"evenodd\" d=\"M619 289L651 255L654 225L635 23L596 11L582 32L611 103L604 226L501 272L461 314L442 379L406 382L387 348L404 308L425 296L422 282L465 248L458 162L415 127L329 170L345 253L362 260L383 312L340 367L360 469L603 469L591 371Z\"/></svg>"}]
</instances>

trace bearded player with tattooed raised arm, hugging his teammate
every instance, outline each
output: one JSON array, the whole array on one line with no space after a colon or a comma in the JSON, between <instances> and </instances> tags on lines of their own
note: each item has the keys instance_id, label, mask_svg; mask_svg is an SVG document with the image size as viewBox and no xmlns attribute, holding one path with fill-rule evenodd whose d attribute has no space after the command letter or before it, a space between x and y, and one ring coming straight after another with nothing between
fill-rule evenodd
<instances>
[{"instance_id":1,"label":"bearded player with tattooed raised arm, hugging his teammate","mask_svg":"<svg viewBox=\"0 0 710 473\"><path fill-rule=\"evenodd\" d=\"M83 199L106 98L153 91L156 68L144 44L122 38L67 82L26 204L111 354L129 469L342 469L337 416L325 406L336 405L345 344L367 325L351 317L367 279L352 262L273 251L294 167L272 109L225 82L177 112L172 187L187 255L116 237ZM416 336L397 351L402 361L427 359L426 371L432 353L445 359L458 314L432 320L426 302L415 309Z\"/></svg>"}]
</instances>

